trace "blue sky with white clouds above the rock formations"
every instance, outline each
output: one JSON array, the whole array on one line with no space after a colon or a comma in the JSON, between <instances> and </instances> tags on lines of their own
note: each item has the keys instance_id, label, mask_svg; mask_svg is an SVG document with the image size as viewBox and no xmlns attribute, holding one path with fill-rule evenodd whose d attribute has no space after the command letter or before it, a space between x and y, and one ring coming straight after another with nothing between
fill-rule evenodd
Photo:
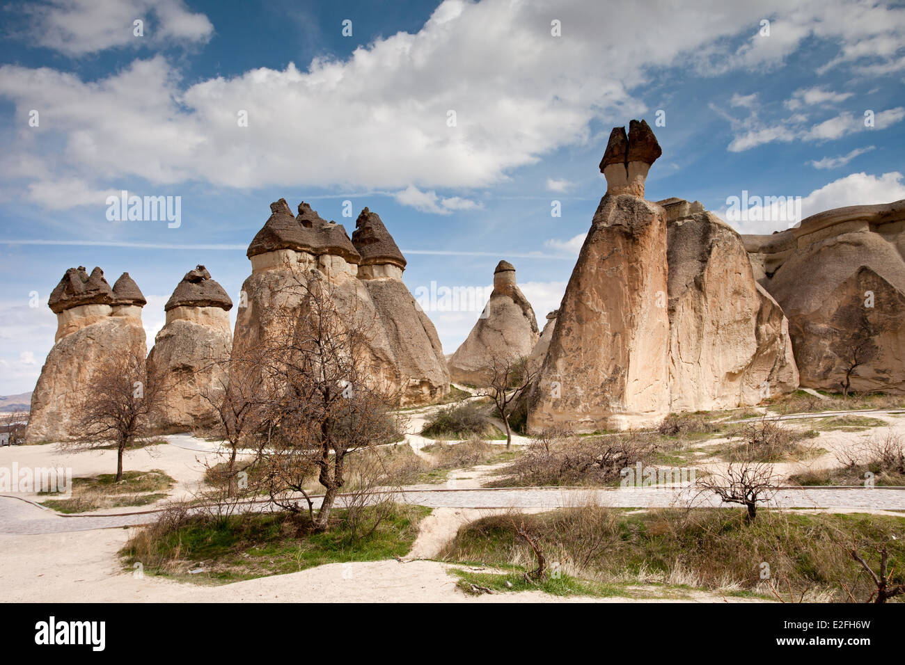
<instances>
[{"instance_id":1,"label":"blue sky with white clouds above the rock formations","mask_svg":"<svg viewBox=\"0 0 905 665\"><path fill-rule=\"evenodd\" d=\"M905 198L901 5L57 0L0 16L0 394L33 388L67 268L129 271L150 346L196 263L236 299L280 197L349 233L369 206L413 291L489 285L505 258L542 323L604 193L609 130L633 118L663 148L652 200L724 214L747 190L800 196L806 216ZM121 190L181 197L181 224L108 220ZM478 315L428 313L447 353Z\"/></svg>"}]
</instances>

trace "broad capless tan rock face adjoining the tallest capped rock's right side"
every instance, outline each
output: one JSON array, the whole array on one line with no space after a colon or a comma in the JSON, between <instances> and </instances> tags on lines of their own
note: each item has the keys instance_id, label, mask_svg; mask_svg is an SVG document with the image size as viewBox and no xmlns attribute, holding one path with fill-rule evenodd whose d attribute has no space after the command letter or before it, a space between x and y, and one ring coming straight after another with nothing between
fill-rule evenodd
<instances>
[{"instance_id":1,"label":"broad capless tan rock face adjoining the tallest capped rock's right side","mask_svg":"<svg viewBox=\"0 0 905 665\"><path fill-rule=\"evenodd\" d=\"M735 408L795 390L788 322L754 279L738 233L708 212L667 228L670 410Z\"/></svg>"}]
</instances>

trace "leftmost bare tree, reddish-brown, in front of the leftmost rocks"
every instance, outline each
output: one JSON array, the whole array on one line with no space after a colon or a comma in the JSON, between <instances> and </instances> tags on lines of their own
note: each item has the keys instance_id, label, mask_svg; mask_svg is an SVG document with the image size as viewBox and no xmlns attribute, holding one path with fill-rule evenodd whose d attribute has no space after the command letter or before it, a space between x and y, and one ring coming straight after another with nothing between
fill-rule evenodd
<instances>
[{"instance_id":1,"label":"leftmost bare tree, reddish-brown, in front of the leftmost rocks","mask_svg":"<svg viewBox=\"0 0 905 665\"><path fill-rule=\"evenodd\" d=\"M148 442L149 416L157 408L161 388L161 381L148 375L138 348L110 356L91 376L85 400L73 413L79 434L60 447L85 451L112 444L117 450L116 482L122 482L123 453Z\"/></svg>"}]
</instances>

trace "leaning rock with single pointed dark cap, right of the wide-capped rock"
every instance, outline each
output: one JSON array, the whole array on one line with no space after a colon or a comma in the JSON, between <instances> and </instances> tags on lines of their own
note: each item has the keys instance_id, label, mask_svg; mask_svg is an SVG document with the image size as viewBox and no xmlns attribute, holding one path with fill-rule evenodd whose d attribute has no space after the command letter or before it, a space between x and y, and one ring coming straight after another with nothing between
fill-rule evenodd
<instances>
[{"instance_id":1,"label":"leaning rock with single pointed dark cap, right of the wide-capped rock","mask_svg":"<svg viewBox=\"0 0 905 665\"><path fill-rule=\"evenodd\" d=\"M403 404L427 404L447 394L450 378L440 337L405 287L405 257L376 213L365 208L358 215L352 243L361 255L358 279L392 351Z\"/></svg>"}]
</instances>

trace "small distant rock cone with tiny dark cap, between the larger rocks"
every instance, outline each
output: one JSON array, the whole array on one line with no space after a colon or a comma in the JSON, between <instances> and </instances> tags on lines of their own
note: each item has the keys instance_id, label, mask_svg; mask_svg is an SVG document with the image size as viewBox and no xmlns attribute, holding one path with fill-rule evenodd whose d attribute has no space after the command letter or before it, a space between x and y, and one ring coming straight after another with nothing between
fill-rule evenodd
<instances>
[{"instance_id":1,"label":"small distant rock cone with tiny dark cap, between the larger rocks","mask_svg":"<svg viewBox=\"0 0 905 665\"><path fill-rule=\"evenodd\" d=\"M500 261L481 317L449 360L452 381L487 385L494 359L529 356L538 337L538 321L516 283L515 268L509 261Z\"/></svg>"}]
</instances>

